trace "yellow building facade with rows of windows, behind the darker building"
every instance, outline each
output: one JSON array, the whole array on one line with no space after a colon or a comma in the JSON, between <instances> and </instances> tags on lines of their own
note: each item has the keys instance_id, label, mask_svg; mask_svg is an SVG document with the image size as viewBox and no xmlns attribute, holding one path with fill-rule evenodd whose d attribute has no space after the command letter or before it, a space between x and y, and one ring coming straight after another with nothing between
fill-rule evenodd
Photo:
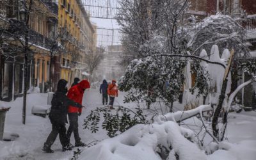
<instances>
[{"instance_id":1,"label":"yellow building facade with rows of windows, behind the darker building","mask_svg":"<svg viewBox=\"0 0 256 160\"><path fill-rule=\"evenodd\" d=\"M81 0L60 0L59 29L67 29L65 52L61 54L61 78L72 83L74 77L82 78L86 70L86 53L95 50L95 28Z\"/></svg>"}]
</instances>

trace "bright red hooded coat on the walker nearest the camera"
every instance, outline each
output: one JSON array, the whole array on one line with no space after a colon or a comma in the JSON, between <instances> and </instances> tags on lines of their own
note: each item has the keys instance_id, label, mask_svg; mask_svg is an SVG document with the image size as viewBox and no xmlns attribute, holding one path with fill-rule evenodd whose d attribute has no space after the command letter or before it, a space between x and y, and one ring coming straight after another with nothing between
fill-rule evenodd
<instances>
[{"instance_id":1,"label":"bright red hooded coat on the walker nearest the camera","mask_svg":"<svg viewBox=\"0 0 256 160\"><path fill-rule=\"evenodd\" d=\"M90 83L87 80L83 80L80 83L72 86L68 90L68 98L75 102L82 104L84 90L90 88ZM68 113L82 113L82 108L76 108L72 105L68 107Z\"/></svg>"}]
</instances>

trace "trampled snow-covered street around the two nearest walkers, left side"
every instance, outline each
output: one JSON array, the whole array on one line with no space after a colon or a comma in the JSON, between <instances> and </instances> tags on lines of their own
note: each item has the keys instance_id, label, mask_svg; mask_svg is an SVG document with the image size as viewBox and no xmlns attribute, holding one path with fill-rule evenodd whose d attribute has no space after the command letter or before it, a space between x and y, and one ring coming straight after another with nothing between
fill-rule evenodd
<instances>
[{"instance_id":1,"label":"trampled snow-covered street around the two nearest walkers, left side","mask_svg":"<svg viewBox=\"0 0 256 160\"><path fill-rule=\"evenodd\" d=\"M116 98L116 102L122 104L122 93ZM68 159L72 157L72 151L62 152L60 139L57 138L52 145L52 149L56 151L54 154L45 154L42 152L44 142L51 132L51 122L47 118L31 115L31 108L35 104L47 104L47 93L33 93L28 95L28 107L26 109L26 125L21 123L22 116L22 98L18 98L14 102L4 102L6 106L11 106L10 111L6 113L4 132L17 133L19 138L15 141L0 141L0 159ZM100 130L96 134L92 134L88 130L83 129L83 120L90 113L90 110L102 107L102 97L99 90L88 90L84 94L83 110L79 117L79 134L84 143L90 143L94 140L102 140L107 138L104 131ZM68 128L68 125L66 125ZM74 136L71 137L71 143L74 144Z\"/></svg>"}]
</instances>

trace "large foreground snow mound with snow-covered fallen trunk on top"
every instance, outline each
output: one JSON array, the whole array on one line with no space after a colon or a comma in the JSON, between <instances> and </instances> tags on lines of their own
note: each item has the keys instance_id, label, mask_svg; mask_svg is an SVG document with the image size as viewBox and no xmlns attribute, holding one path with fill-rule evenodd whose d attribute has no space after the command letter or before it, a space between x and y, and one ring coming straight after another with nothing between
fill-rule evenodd
<instances>
[{"instance_id":1,"label":"large foreground snow mound with snow-covered fallen trunk on top","mask_svg":"<svg viewBox=\"0 0 256 160\"><path fill-rule=\"evenodd\" d=\"M98 145L88 148L81 159L206 159L203 150L195 142L190 129L180 127L176 121L189 118L202 111L209 111L208 105L191 111L178 111L159 115L154 124L135 125L124 133Z\"/></svg>"}]
</instances>

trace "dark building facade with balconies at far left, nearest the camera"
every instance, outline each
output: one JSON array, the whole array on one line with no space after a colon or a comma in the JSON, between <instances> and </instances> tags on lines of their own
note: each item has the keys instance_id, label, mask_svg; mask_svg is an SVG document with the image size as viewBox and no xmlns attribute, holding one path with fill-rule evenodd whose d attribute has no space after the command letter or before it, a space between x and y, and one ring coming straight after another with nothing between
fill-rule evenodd
<instances>
[{"instance_id":1,"label":"dark building facade with balconies at far left, nearest the camera","mask_svg":"<svg viewBox=\"0 0 256 160\"><path fill-rule=\"evenodd\" d=\"M5 13L0 28L6 31L1 36L1 87L0 99L13 100L22 96L24 77L24 44L28 38L28 90L34 86L40 92L49 89L49 61L51 44L58 23L58 6L51 0L32 1L31 10L24 10L24 1L1 1L1 15ZM26 3L28 4L28 3ZM3 12L4 10L4 12ZM24 13L26 11L26 13ZM28 23L24 16L29 15ZM3 20L3 16L2 20ZM28 28L26 33L24 28Z\"/></svg>"}]
</instances>

